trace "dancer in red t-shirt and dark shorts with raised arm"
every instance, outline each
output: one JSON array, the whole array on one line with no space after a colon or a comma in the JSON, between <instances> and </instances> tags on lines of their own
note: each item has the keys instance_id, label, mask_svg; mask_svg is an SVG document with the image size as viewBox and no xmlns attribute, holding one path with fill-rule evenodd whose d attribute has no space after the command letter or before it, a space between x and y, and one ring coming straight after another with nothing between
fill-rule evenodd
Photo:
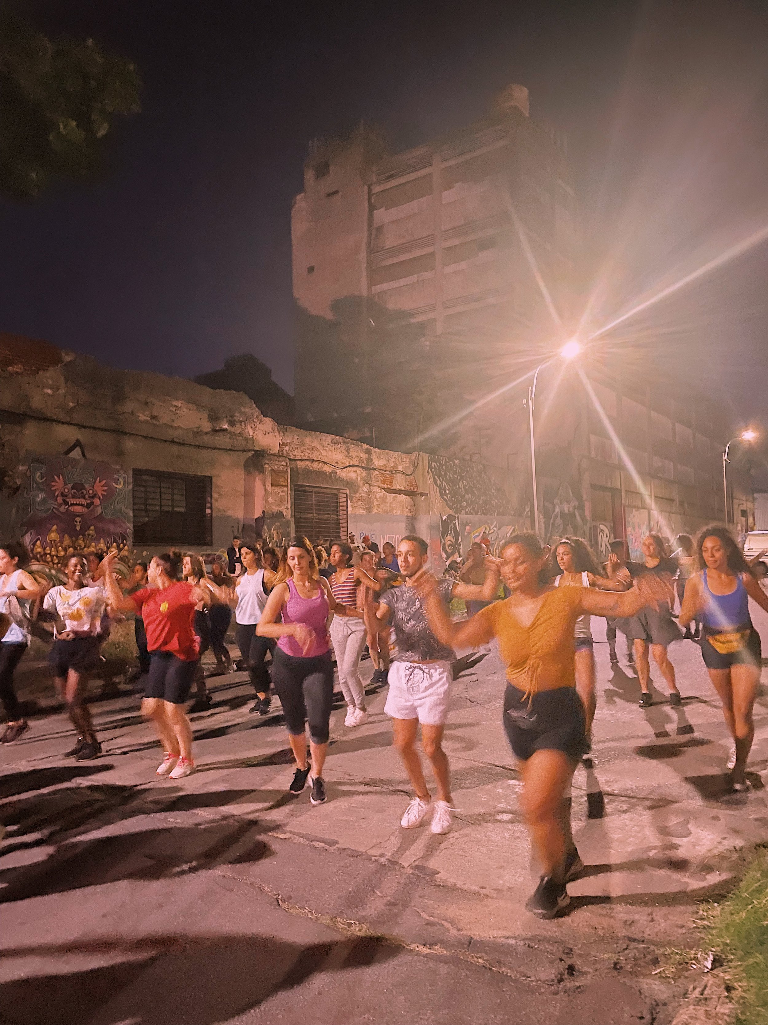
<instances>
[{"instance_id":1,"label":"dancer in red t-shirt and dark shorts with raised arm","mask_svg":"<svg viewBox=\"0 0 768 1025\"><path fill-rule=\"evenodd\" d=\"M195 632L195 609L205 596L200 587L178 580L178 560L155 556L146 571L148 587L122 594L112 572L115 556L104 559L104 579L113 609L141 616L151 656L141 714L153 720L166 755L158 776L180 779L195 770L191 727L184 702L195 680L200 639Z\"/></svg>"}]
</instances>

